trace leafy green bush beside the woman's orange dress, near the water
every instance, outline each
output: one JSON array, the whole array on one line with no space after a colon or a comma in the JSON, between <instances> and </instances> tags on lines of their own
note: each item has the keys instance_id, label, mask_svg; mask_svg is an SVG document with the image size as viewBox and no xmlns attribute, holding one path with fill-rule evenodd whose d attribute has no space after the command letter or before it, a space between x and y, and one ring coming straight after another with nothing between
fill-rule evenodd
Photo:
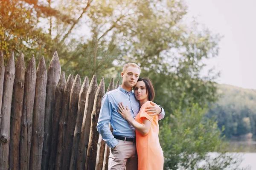
<instances>
[{"instance_id":1,"label":"leafy green bush beside the woman's orange dress, near the water","mask_svg":"<svg viewBox=\"0 0 256 170\"><path fill-rule=\"evenodd\" d=\"M181 109L162 120L160 144L166 170L239 170L240 154L227 153L227 143L221 137L214 119L207 119L206 108L198 104ZM223 129L224 130L224 129ZM212 158L209 153L216 152Z\"/></svg>"}]
</instances>

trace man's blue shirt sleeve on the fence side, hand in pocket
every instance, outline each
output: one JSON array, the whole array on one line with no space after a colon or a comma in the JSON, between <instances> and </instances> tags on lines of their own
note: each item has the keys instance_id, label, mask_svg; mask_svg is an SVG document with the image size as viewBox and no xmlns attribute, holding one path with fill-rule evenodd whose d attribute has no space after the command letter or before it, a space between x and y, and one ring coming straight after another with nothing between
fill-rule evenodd
<instances>
[{"instance_id":1,"label":"man's blue shirt sleeve on the fence side, hand in pocket","mask_svg":"<svg viewBox=\"0 0 256 170\"><path fill-rule=\"evenodd\" d=\"M105 94L102 98L102 105L99 112L99 119L97 123L97 130L101 134L102 139L112 149L119 143L109 129L109 121L112 113L112 102L109 94Z\"/></svg>"}]
</instances>

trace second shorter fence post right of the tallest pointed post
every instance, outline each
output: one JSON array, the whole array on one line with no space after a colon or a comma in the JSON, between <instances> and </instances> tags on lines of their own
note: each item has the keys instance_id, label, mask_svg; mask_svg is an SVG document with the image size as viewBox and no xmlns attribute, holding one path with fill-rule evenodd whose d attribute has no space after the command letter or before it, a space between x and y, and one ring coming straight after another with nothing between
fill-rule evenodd
<instances>
[{"instance_id":1,"label":"second shorter fence post right of the tallest pointed post","mask_svg":"<svg viewBox=\"0 0 256 170\"><path fill-rule=\"evenodd\" d=\"M57 153L56 153L56 161L55 161L55 170L62 170L62 162L63 162L63 149L65 144L66 138L66 131L67 131L67 118L69 112L69 104L70 104L70 94L71 89L73 86L74 78L73 75L70 74L67 78L67 83L64 89L63 94L63 102L62 102L62 112L61 118L58 128L58 146L57 146Z\"/></svg>"}]
</instances>

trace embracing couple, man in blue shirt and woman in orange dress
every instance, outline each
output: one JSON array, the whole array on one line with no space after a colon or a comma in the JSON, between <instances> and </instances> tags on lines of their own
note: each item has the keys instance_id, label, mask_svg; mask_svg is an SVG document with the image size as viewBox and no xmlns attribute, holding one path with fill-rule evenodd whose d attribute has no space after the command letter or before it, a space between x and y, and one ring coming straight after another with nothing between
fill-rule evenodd
<instances>
[{"instance_id":1,"label":"embracing couple, man in blue shirt and woman in orange dress","mask_svg":"<svg viewBox=\"0 0 256 170\"><path fill-rule=\"evenodd\" d=\"M152 82L139 78L140 71L135 63L125 64L122 85L102 98L97 130L111 148L109 170L163 170L158 120L164 110L152 102Z\"/></svg>"}]
</instances>

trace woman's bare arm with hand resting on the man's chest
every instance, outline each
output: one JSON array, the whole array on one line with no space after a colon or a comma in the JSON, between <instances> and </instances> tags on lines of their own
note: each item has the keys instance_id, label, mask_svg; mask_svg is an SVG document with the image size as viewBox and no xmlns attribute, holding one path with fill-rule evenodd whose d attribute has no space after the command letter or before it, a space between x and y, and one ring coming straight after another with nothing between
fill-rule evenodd
<instances>
[{"instance_id":1,"label":"woman's bare arm with hand resting on the man's chest","mask_svg":"<svg viewBox=\"0 0 256 170\"><path fill-rule=\"evenodd\" d=\"M151 127L151 122L146 119L145 117L143 117L143 124L140 124L139 122L137 122L136 120L134 120L134 118L131 116L131 112L128 109L128 107L126 106L126 108L122 105L118 106L119 110L118 113L120 113L120 115L127 120L136 130L138 130L143 136L147 135L149 132L149 129Z\"/></svg>"}]
</instances>

